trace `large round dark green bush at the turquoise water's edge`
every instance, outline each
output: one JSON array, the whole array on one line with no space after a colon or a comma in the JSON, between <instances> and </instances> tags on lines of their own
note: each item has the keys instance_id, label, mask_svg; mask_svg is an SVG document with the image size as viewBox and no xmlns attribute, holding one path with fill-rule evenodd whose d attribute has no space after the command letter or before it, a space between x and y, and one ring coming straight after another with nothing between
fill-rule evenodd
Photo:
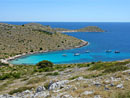
<instances>
[{"instance_id":1,"label":"large round dark green bush at the turquoise water's edge","mask_svg":"<svg viewBox=\"0 0 130 98\"><path fill-rule=\"evenodd\" d=\"M47 60L41 61L38 64L36 64L36 66L38 66L38 68L52 68L53 67L53 63ZM49 69L46 69L47 71Z\"/></svg>"}]
</instances>

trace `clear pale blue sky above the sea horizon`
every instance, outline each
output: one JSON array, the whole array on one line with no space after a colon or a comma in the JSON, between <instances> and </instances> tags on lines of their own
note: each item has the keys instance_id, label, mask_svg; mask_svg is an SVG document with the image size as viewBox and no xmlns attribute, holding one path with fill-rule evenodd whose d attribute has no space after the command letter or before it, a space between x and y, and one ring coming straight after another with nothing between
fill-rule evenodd
<instances>
[{"instance_id":1,"label":"clear pale blue sky above the sea horizon","mask_svg":"<svg viewBox=\"0 0 130 98\"><path fill-rule=\"evenodd\" d=\"M130 22L130 0L0 0L0 21Z\"/></svg>"}]
</instances>

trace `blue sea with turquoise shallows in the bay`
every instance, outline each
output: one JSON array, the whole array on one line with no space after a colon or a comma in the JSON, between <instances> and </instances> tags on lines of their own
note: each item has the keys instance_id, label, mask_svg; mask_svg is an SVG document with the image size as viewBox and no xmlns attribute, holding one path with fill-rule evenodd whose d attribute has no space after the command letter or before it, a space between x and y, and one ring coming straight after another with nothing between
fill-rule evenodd
<instances>
[{"instance_id":1,"label":"blue sea with turquoise shallows in the bay","mask_svg":"<svg viewBox=\"0 0 130 98\"><path fill-rule=\"evenodd\" d=\"M10 24L22 25L28 22L7 22ZM86 22L38 22L51 27L79 29L86 26L98 26L106 32L73 32L65 33L79 39L86 40L89 46L77 49L40 53L27 55L11 61L13 64L36 64L42 60L50 60L53 63L82 63L91 61L115 61L130 58L130 23L86 23ZM112 53L106 53L105 50L112 50ZM85 53L89 50L90 53ZM120 51L115 54L114 51ZM74 56L74 53L80 53ZM66 57L62 54L67 54Z\"/></svg>"}]
</instances>

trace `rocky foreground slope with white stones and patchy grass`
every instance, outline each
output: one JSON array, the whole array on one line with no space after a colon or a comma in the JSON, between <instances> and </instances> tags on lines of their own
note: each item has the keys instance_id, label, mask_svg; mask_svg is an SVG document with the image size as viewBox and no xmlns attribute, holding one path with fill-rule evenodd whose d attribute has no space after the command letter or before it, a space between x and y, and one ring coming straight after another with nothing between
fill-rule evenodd
<instances>
[{"instance_id":1,"label":"rocky foreground slope with white stones and patchy grass","mask_svg":"<svg viewBox=\"0 0 130 98\"><path fill-rule=\"evenodd\" d=\"M1 66L0 98L130 98L130 60Z\"/></svg>"}]
</instances>

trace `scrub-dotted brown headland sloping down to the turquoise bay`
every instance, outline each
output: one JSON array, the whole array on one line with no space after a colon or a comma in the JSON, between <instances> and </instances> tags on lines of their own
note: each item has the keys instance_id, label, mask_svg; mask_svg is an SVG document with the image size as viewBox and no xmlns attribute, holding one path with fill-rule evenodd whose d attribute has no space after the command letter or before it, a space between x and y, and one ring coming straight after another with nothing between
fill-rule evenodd
<instances>
[{"instance_id":1,"label":"scrub-dotted brown headland sloping down to the turquoise bay","mask_svg":"<svg viewBox=\"0 0 130 98\"><path fill-rule=\"evenodd\" d=\"M81 40L56 32L50 26L0 23L0 58L28 52L69 49L81 44Z\"/></svg>"}]
</instances>

